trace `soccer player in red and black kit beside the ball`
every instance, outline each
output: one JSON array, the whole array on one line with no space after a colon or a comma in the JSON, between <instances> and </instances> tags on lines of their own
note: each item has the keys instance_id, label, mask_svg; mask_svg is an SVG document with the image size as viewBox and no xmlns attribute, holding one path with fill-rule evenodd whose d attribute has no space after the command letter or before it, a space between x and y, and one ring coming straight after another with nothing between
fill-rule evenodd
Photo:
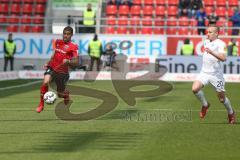
<instances>
[{"instance_id":1,"label":"soccer player in red and black kit beside the ball","mask_svg":"<svg viewBox=\"0 0 240 160\"><path fill-rule=\"evenodd\" d=\"M78 65L78 45L71 42L73 29L67 26L63 29L63 39L55 42L55 51L50 61L45 65L43 83L40 88L40 103L37 112L44 108L43 95L48 91L48 83L54 81L57 86L58 97L64 98L65 105L68 104L69 91L65 90L69 79L69 67Z\"/></svg>"}]
</instances>

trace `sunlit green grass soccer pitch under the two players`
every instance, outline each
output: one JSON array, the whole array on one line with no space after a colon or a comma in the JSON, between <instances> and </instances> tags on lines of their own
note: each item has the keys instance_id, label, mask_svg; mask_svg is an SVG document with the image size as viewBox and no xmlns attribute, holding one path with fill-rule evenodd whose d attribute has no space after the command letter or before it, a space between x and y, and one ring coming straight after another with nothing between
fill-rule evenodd
<instances>
[{"instance_id":1,"label":"sunlit green grass soccer pitch under the two players","mask_svg":"<svg viewBox=\"0 0 240 160\"><path fill-rule=\"evenodd\" d=\"M204 120L199 119L200 103L191 92L191 83L172 83L171 92L139 98L134 107L118 97L118 106L100 118L63 121L56 117L54 105L46 105L40 114L35 112L40 82L2 89L29 82L0 82L1 160L240 159L240 123L227 124L226 110L211 86L204 88L211 103ZM118 96L111 81L70 81L69 84ZM240 86L227 83L226 90L238 121ZM101 103L84 96L74 95L72 99L73 113L88 111Z\"/></svg>"}]
</instances>

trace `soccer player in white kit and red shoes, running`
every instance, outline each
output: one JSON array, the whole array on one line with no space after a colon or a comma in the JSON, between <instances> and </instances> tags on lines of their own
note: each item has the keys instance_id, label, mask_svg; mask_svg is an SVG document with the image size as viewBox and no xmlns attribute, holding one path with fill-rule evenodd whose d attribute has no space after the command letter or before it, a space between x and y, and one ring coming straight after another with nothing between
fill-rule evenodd
<instances>
[{"instance_id":1,"label":"soccer player in white kit and red shoes, running","mask_svg":"<svg viewBox=\"0 0 240 160\"><path fill-rule=\"evenodd\" d=\"M204 118L210 106L203 91L205 85L211 84L216 92L218 99L224 104L228 112L228 122L235 123L235 113L229 99L225 96L225 81L223 78L221 62L226 60L226 44L218 39L219 28L211 25L207 29L207 39L204 40L204 53L202 69L197 79L193 82L192 91L202 104L200 118Z\"/></svg>"}]
</instances>

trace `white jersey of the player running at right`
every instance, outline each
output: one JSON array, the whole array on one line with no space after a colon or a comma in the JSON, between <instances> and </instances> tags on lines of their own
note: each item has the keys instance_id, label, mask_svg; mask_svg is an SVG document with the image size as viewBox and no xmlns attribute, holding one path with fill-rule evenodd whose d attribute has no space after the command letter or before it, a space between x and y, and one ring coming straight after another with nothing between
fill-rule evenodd
<instances>
[{"instance_id":1,"label":"white jersey of the player running at right","mask_svg":"<svg viewBox=\"0 0 240 160\"><path fill-rule=\"evenodd\" d=\"M215 39L214 41L210 41L209 39L206 39L204 41L204 48L209 48L214 53L221 53L226 54L226 44L220 39ZM203 63L202 63L202 72L205 73L220 73L222 74L222 64L221 61L218 60L213 55L207 53L204 51L203 54Z\"/></svg>"}]
</instances>

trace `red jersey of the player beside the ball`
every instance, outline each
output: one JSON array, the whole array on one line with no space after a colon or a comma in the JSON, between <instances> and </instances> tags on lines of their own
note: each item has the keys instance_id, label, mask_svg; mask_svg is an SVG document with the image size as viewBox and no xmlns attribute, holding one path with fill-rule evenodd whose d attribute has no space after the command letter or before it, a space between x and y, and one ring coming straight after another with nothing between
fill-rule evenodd
<instances>
[{"instance_id":1,"label":"red jersey of the player beside the ball","mask_svg":"<svg viewBox=\"0 0 240 160\"><path fill-rule=\"evenodd\" d=\"M78 57L78 45L73 42L65 43L63 40L57 39L54 50L54 55L49 61L48 66L56 72L68 73L69 67L63 64L63 60L71 60L73 57Z\"/></svg>"}]
</instances>

